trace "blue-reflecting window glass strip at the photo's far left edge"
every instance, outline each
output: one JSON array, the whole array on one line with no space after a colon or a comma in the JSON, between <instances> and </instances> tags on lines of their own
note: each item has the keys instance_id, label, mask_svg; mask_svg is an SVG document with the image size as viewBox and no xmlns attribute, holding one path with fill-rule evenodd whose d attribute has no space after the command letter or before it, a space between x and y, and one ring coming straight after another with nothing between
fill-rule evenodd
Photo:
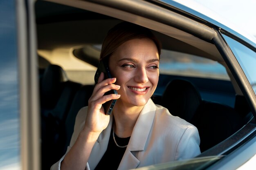
<instances>
[{"instance_id":1,"label":"blue-reflecting window glass strip at the photo's far left edge","mask_svg":"<svg viewBox=\"0 0 256 170\"><path fill-rule=\"evenodd\" d=\"M15 4L0 2L0 170L20 169Z\"/></svg>"}]
</instances>

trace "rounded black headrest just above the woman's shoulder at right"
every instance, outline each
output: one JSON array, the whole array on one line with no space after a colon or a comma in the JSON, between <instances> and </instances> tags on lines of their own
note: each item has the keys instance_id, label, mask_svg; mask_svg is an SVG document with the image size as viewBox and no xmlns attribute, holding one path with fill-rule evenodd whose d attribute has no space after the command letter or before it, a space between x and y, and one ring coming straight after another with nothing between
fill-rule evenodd
<instances>
[{"instance_id":1,"label":"rounded black headrest just above the woman's shoulder at right","mask_svg":"<svg viewBox=\"0 0 256 170\"><path fill-rule=\"evenodd\" d=\"M191 82L173 79L165 88L161 105L168 108L172 115L190 122L201 102L201 95Z\"/></svg>"}]
</instances>

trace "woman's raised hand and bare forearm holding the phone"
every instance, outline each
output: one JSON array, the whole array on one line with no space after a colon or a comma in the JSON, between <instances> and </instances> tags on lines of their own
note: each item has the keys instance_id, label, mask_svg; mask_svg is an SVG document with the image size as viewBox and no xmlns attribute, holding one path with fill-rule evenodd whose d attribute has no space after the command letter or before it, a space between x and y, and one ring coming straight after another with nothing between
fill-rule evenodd
<instances>
[{"instance_id":1,"label":"woman's raised hand and bare forearm holding the phone","mask_svg":"<svg viewBox=\"0 0 256 170\"><path fill-rule=\"evenodd\" d=\"M120 86L113 84L115 82L116 78L104 80L103 73L99 76L99 82L95 85L92 96L88 101L85 126L61 162L61 170L85 169L95 141L109 123L110 116L105 115L102 104L120 97L120 95L114 94L103 96L111 89L119 90Z\"/></svg>"}]
</instances>

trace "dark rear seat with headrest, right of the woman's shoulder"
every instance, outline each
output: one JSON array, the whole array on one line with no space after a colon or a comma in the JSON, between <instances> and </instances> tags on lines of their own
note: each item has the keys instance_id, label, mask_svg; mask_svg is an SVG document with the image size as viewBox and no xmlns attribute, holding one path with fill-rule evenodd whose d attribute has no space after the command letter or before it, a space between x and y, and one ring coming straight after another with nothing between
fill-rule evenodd
<instances>
[{"instance_id":1,"label":"dark rear seat with headrest, right of the woman's shoulder","mask_svg":"<svg viewBox=\"0 0 256 170\"><path fill-rule=\"evenodd\" d=\"M184 79L174 79L168 83L161 105L168 108L172 115L198 128L201 152L234 134L244 125L241 120L246 119L237 109L203 100L198 89Z\"/></svg>"}]
</instances>

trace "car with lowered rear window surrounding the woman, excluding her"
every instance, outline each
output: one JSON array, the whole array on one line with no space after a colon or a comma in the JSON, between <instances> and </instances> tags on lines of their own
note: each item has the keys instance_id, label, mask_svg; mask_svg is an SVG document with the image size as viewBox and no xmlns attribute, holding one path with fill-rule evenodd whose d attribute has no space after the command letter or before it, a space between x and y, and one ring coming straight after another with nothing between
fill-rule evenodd
<instances>
[{"instance_id":1,"label":"car with lowered rear window surrounding the woman, excluding her","mask_svg":"<svg viewBox=\"0 0 256 170\"><path fill-rule=\"evenodd\" d=\"M255 37L189 5L1 2L0 169L47 170L64 155L94 88L101 43L122 21L149 28L162 43L152 99L195 125L201 140L197 157L138 170L254 169Z\"/></svg>"}]
</instances>

